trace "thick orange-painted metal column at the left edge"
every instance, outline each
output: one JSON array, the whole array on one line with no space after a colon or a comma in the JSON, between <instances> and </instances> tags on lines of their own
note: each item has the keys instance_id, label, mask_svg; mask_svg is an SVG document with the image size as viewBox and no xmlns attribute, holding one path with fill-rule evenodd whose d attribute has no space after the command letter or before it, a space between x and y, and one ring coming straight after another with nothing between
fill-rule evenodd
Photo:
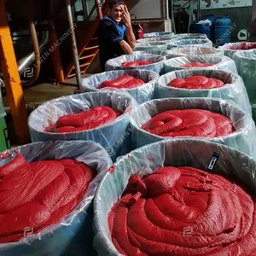
<instances>
[{"instance_id":1,"label":"thick orange-painted metal column at the left edge","mask_svg":"<svg viewBox=\"0 0 256 256\"><path fill-rule=\"evenodd\" d=\"M28 143L30 137L27 126L26 105L5 11L5 1L3 0L0 0L0 59L10 112L15 124L16 137L18 143Z\"/></svg>"}]
</instances>

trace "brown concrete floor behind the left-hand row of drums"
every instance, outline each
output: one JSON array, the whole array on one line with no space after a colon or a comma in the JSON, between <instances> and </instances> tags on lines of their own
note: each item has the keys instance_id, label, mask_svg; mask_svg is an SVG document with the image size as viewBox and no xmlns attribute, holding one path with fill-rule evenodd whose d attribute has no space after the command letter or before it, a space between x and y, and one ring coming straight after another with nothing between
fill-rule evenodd
<instances>
[{"instance_id":1,"label":"brown concrete floor behind the left-hand row of drums","mask_svg":"<svg viewBox=\"0 0 256 256\"><path fill-rule=\"evenodd\" d=\"M82 78L87 78L91 74L84 74ZM24 89L24 98L26 106L38 106L51 99L55 99L61 96L72 95L76 89L76 78L68 79L68 85L63 84L37 84L30 88ZM73 84L73 85L69 85ZM7 96L3 96L3 104L6 111L9 111L9 102Z\"/></svg>"}]
</instances>

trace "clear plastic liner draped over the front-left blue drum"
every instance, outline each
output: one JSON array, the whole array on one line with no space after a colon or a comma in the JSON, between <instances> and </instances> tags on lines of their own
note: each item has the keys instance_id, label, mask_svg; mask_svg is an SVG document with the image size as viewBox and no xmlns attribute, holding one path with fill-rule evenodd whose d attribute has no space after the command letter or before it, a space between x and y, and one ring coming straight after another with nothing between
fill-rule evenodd
<instances>
[{"instance_id":1,"label":"clear plastic liner draped over the front-left blue drum","mask_svg":"<svg viewBox=\"0 0 256 256\"><path fill-rule=\"evenodd\" d=\"M89 188L84 195L84 199L79 205L69 213L59 224L53 224L42 230L37 235L26 236L20 241L0 244L1 256L59 256L62 253L68 254L71 244L81 247L84 251L85 243L76 239L78 231L83 227L89 229L87 224L88 209L96 193L96 188L102 177L112 165L112 160L102 146L94 142L70 141L70 142L49 142L32 143L7 151L12 157L0 160L0 166L7 164L15 157L15 150L20 152L27 162L38 160L74 159L84 162L96 170L97 175L90 182ZM29 231L32 227L24 227ZM88 245L87 245L88 246ZM72 252L69 252L72 253ZM70 254L68 254L70 255Z\"/></svg>"}]
</instances>

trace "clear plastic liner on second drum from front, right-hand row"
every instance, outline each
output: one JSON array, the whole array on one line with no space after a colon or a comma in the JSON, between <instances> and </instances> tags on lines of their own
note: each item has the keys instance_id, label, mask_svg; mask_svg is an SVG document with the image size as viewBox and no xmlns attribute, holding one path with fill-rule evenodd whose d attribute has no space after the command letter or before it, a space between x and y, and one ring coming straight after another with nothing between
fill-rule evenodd
<instances>
[{"instance_id":1,"label":"clear plastic liner on second drum from front, right-hand row","mask_svg":"<svg viewBox=\"0 0 256 256\"><path fill-rule=\"evenodd\" d=\"M197 137L197 139L213 141L236 148L241 152L256 157L256 130L253 119L249 113L241 110L236 104L216 98L166 98L145 102L131 114L131 146L139 148L148 143L165 139L141 129L149 119L156 114L174 109L205 109L213 113L220 113L231 119L235 132L226 137Z\"/></svg>"}]
</instances>

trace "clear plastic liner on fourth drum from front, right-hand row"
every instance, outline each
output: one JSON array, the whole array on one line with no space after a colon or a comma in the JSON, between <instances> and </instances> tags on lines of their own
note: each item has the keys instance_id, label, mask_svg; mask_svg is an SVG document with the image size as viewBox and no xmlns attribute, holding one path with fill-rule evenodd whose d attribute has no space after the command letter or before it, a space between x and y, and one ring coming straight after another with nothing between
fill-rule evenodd
<instances>
[{"instance_id":1,"label":"clear plastic liner on fourth drum from front, right-hand row","mask_svg":"<svg viewBox=\"0 0 256 256\"><path fill-rule=\"evenodd\" d=\"M172 72L174 70L188 69L188 67L182 67L185 64L191 62L212 63L210 67L189 67L190 70L203 68L203 69L220 69L224 71L230 71L237 74L237 68L235 61L231 60L227 56L186 56L177 57L165 61L164 71L165 73Z\"/></svg>"}]
</instances>

